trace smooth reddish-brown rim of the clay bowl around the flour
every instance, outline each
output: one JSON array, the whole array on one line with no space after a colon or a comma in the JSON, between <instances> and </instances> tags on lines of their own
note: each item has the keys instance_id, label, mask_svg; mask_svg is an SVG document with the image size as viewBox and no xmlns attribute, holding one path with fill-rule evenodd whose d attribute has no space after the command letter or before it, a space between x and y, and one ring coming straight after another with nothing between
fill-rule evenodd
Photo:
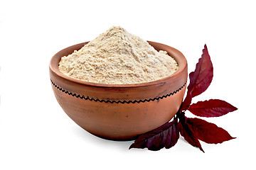
<instances>
[{"instance_id":1,"label":"smooth reddish-brown rim of the clay bowl around the flour","mask_svg":"<svg viewBox=\"0 0 256 170\"><path fill-rule=\"evenodd\" d=\"M154 85L157 85L157 84L165 83L166 81L172 79L173 77L176 77L178 74L181 74L181 72L183 72L183 69L186 69L186 67L187 67L186 57L179 50L177 50L176 48L170 47L169 45L161 44L159 42L147 41L147 42L149 42L150 45L151 44L161 45L161 46L164 45L165 47L168 47L169 49L173 50L175 53L179 53L179 57L181 57L181 58L178 59L179 61L177 61L177 59L175 57L170 55L178 63L178 70L176 72L174 72L174 74L171 74L169 77L164 77L162 79L158 79L156 81L149 81L149 82L137 83L137 84L100 84L100 83L94 83L94 82L90 82L90 81L83 81L83 80L80 80L80 79L75 79L73 77L68 77L67 75L60 72L58 67L56 67L59 64L61 57L63 57L63 56L60 56L60 53L62 53L65 50L75 49L75 47L78 47L80 45L82 45L82 47L83 47L88 42L90 42L90 41L78 43L78 44L75 44L75 45L71 45L71 46L66 47L63 50L60 50L59 52L57 52L55 55L53 55L53 57L50 60L50 65L49 65L50 70L53 73L55 73L56 75L58 75L58 77L61 77L65 80L73 81L74 83L82 84L82 85L85 85L85 86L95 86L95 87L100 87L100 88L114 88L114 89L119 89L119 88L124 89L125 88L125 89L127 89L127 88L137 88L137 87L145 87L145 86L154 86ZM151 46L154 47L154 45L151 45ZM168 55L169 55L169 52L168 52ZM58 63L56 63L56 62L58 62Z\"/></svg>"}]
</instances>

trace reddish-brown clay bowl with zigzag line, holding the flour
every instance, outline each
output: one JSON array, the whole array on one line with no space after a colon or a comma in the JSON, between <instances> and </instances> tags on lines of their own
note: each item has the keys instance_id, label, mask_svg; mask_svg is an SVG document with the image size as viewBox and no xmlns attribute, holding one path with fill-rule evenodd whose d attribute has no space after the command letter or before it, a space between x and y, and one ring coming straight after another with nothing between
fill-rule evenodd
<instances>
[{"instance_id":1,"label":"reddish-brown clay bowl with zigzag line, holding the flour","mask_svg":"<svg viewBox=\"0 0 256 170\"><path fill-rule=\"evenodd\" d=\"M157 42L178 62L170 77L142 84L97 84L65 76L58 69L60 58L80 50L87 42L67 47L50 60L50 81L63 111L80 127L98 137L131 140L154 130L174 117L186 90L188 67L181 52Z\"/></svg>"}]
</instances>

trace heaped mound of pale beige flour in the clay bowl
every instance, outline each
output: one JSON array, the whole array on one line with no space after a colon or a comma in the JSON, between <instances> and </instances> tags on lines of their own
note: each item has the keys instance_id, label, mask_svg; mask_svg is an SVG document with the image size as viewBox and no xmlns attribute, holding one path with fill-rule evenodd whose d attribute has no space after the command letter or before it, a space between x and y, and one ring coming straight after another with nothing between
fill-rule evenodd
<instances>
[{"instance_id":1,"label":"heaped mound of pale beige flour in the clay bowl","mask_svg":"<svg viewBox=\"0 0 256 170\"><path fill-rule=\"evenodd\" d=\"M114 26L73 54L64 56L60 72L101 84L136 84L156 81L176 72L178 64L165 51Z\"/></svg>"}]
</instances>

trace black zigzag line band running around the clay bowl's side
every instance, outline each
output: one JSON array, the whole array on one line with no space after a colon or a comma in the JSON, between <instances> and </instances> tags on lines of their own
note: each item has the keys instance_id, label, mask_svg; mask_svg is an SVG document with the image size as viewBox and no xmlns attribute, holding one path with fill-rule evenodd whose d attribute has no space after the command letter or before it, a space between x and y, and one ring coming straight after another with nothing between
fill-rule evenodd
<instances>
[{"instance_id":1,"label":"black zigzag line band running around the clay bowl's side","mask_svg":"<svg viewBox=\"0 0 256 170\"><path fill-rule=\"evenodd\" d=\"M155 100L159 100L159 99L163 99L163 98L166 98L166 97L169 97L169 96L172 96L176 93L178 93L178 91L181 91L181 89L183 89L184 86L186 86L186 82L185 84L183 84L180 88L178 88L176 91L172 92L171 94L166 94L165 96L159 96L157 98L149 98L149 99L144 99L143 101L142 100L135 100L135 101L110 101L110 100L100 100L100 99L95 99L95 98L90 98L89 96L85 97L85 96L80 96L80 94L73 94L69 91L66 91L64 89L62 89L60 86L56 85L51 79L50 79L51 83L53 84L53 86L55 86L55 88L57 88L59 91L62 91L63 93L65 94L68 94L70 96L75 96L76 98L81 98L81 99L85 99L85 100L89 100L89 101L100 101L101 103L102 102L105 102L105 103L144 103L144 102L149 102L149 101L155 101Z\"/></svg>"}]
</instances>

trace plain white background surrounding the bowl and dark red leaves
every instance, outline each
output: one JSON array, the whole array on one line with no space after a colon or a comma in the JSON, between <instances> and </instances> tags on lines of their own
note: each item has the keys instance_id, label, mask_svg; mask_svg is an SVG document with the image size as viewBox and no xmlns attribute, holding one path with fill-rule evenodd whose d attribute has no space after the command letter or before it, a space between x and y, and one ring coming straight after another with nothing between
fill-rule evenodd
<instances>
[{"instance_id":1,"label":"plain white background surrounding the bowl and dark red leaves","mask_svg":"<svg viewBox=\"0 0 256 170\"><path fill-rule=\"evenodd\" d=\"M255 169L255 7L253 1L1 1L0 169ZM188 72L206 43L213 82L193 102L219 98L236 106L206 119L237 139L201 142L205 154L183 137L159 152L129 150L133 141L102 140L68 118L51 89L50 58L111 26L175 47Z\"/></svg>"}]
</instances>

